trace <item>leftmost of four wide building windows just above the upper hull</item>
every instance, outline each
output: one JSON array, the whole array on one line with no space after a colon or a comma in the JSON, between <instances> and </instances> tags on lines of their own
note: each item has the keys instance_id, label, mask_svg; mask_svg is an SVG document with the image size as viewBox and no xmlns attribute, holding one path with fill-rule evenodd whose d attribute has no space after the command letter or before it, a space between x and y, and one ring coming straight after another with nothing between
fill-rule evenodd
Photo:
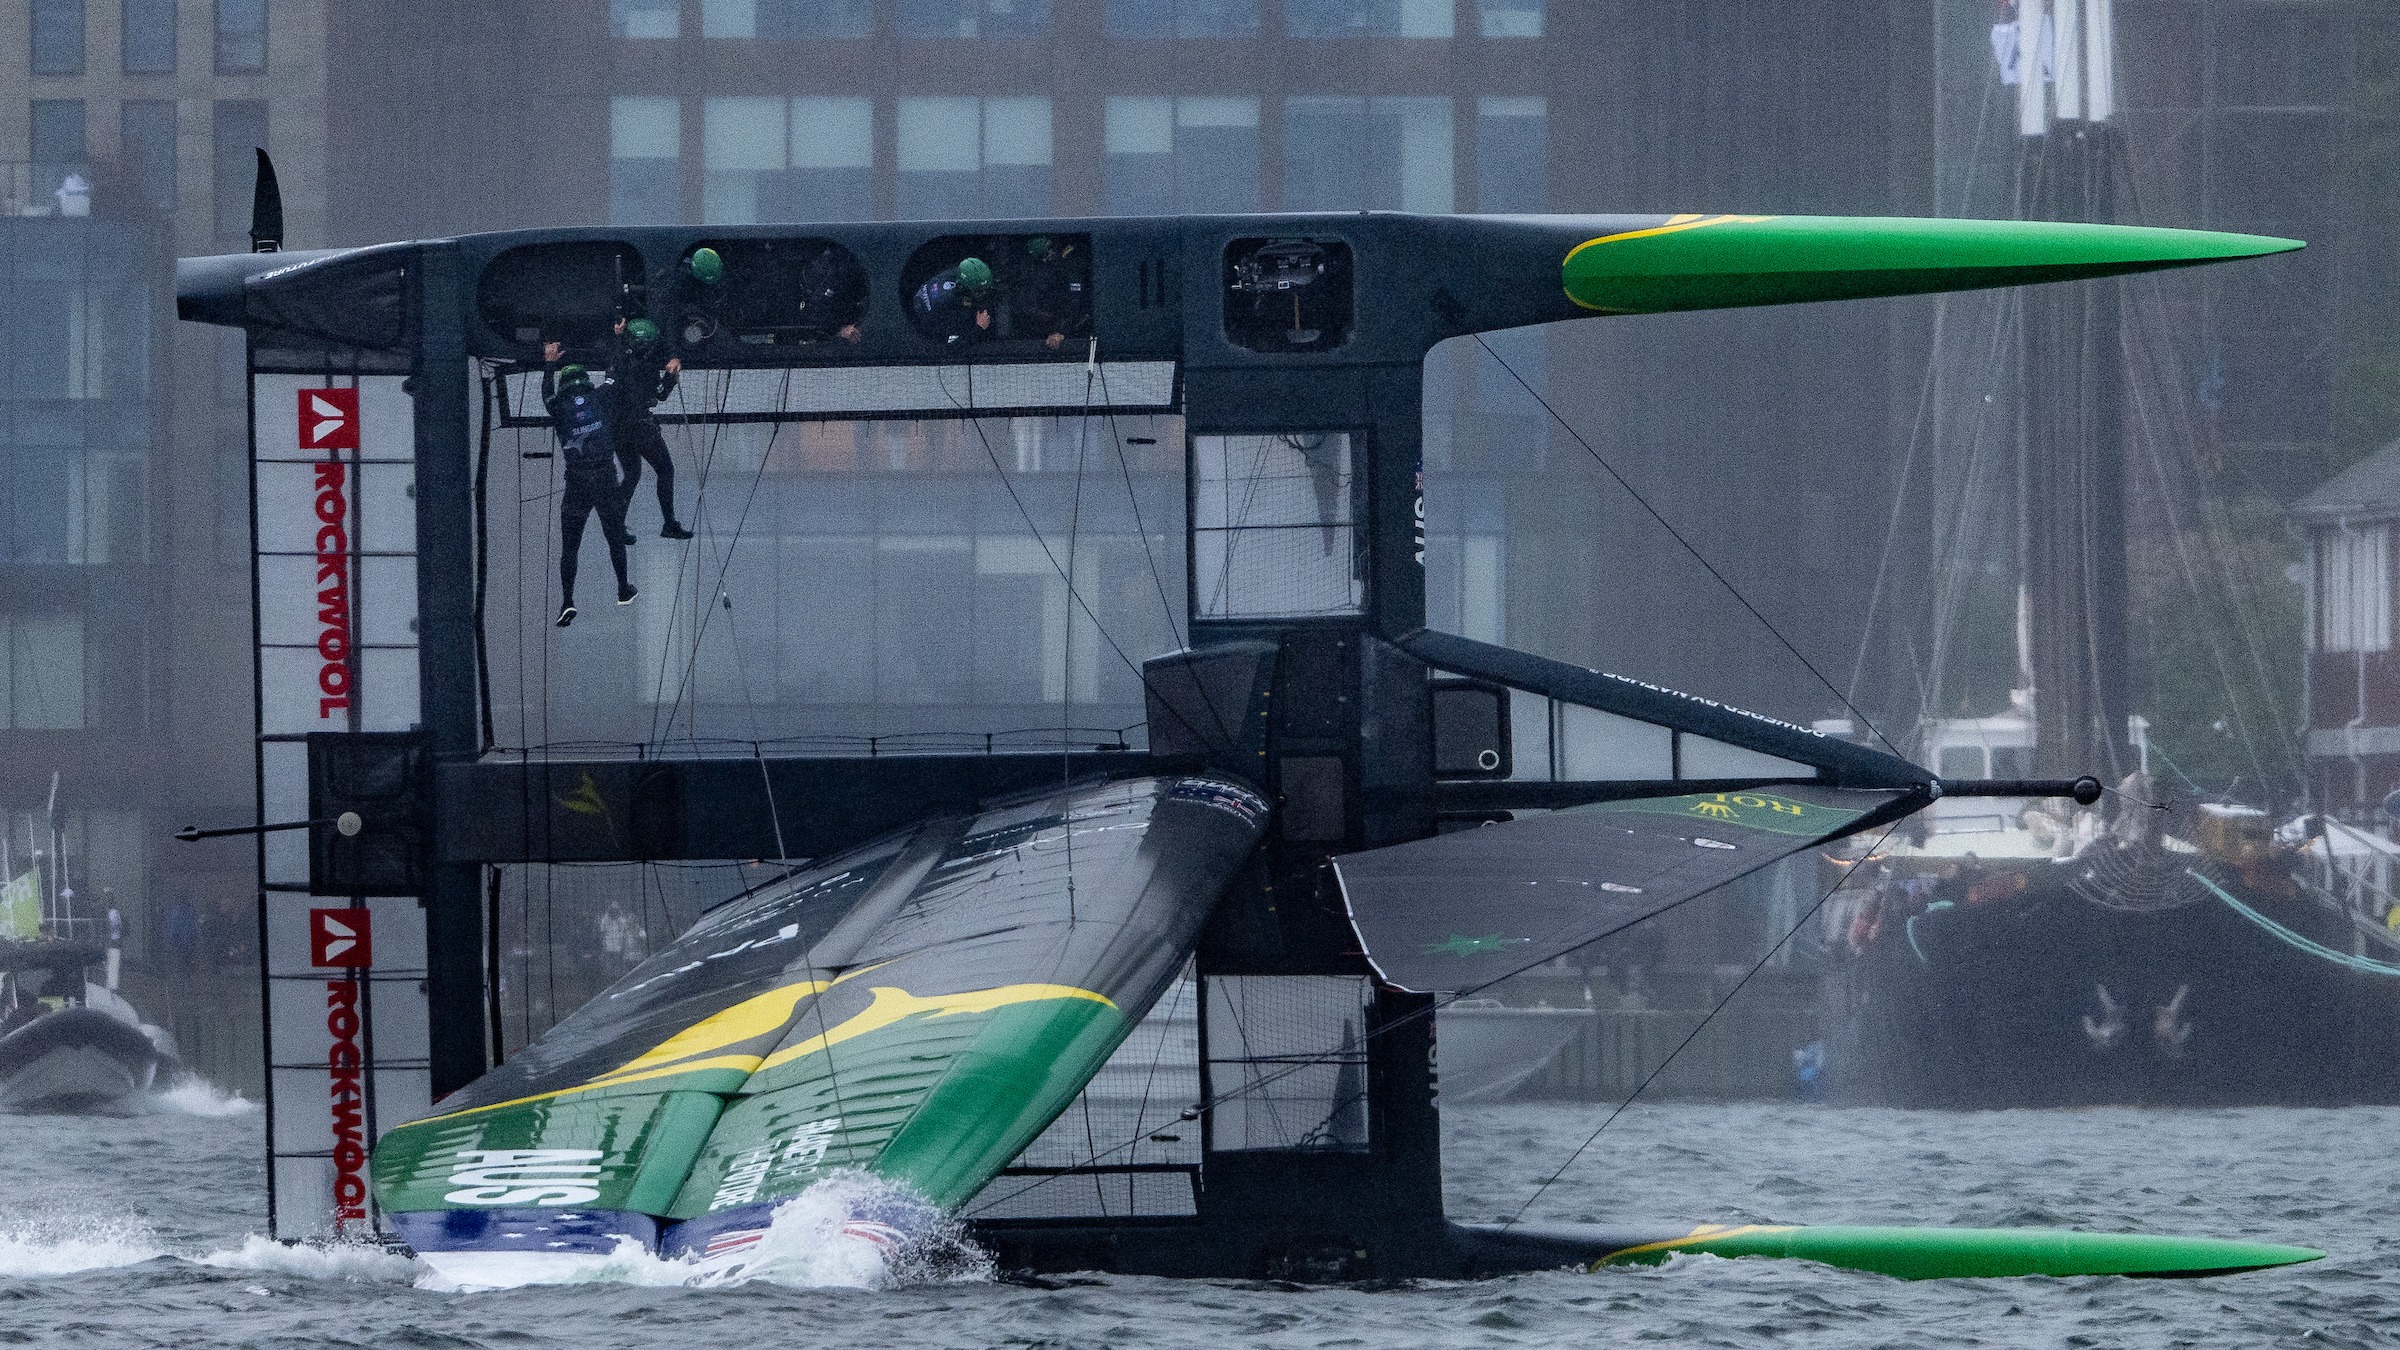
<instances>
[{"instance_id":1,"label":"leftmost of four wide building windows just above the upper hull","mask_svg":"<svg viewBox=\"0 0 2400 1350\"><path fill-rule=\"evenodd\" d=\"M703 142L701 216L713 226L874 216L869 98L710 98Z\"/></svg>"}]
</instances>

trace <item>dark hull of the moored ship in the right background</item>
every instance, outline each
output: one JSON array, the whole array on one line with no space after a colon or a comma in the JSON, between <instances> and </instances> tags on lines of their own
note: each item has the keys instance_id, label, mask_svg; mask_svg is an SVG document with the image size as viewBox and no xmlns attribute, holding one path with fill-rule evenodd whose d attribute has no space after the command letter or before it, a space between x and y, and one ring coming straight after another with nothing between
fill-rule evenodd
<instances>
[{"instance_id":1,"label":"dark hull of the moored ship in the right background","mask_svg":"<svg viewBox=\"0 0 2400 1350\"><path fill-rule=\"evenodd\" d=\"M2230 891L2352 951L2280 886ZM2400 975L2304 951L2213 894L2126 913L2035 884L1886 915L1826 997L1826 1095L1853 1105L2400 1103Z\"/></svg>"}]
</instances>

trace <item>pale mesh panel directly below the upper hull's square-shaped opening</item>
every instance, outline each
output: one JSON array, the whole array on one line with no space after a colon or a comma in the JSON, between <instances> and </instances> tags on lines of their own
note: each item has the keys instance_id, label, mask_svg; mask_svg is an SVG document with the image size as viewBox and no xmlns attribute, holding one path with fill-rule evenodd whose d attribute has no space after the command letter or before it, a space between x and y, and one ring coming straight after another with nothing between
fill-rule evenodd
<instances>
[{"instance_id":1,"label":"pale mesh panel directly below the upper hull's square-shaped opening","mask_svg":"<svg viewBox=\"0 0 2400 1350\"><path fill-rule=\"evenodd\" d=\"M1193 456L1205 617L1358 613L1349 435L1205 435Z\"/></svg>"}]
</instances>

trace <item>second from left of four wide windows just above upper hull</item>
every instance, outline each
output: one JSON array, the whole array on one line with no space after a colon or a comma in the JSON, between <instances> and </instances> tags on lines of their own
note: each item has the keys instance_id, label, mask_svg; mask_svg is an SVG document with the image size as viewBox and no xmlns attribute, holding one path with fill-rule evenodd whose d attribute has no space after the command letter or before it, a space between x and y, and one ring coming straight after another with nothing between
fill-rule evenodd
<instances>
[{"instance_id":1,"label":"second from left of four wide windows just above upper hull","mask_svg":"<svg viewBox=\"0 0 2400 1350\"><path fill-rule=\"evenodd\" d=\"M1049 211L1049 98L900 98L895 211L905 221Z\"/></svg>"}]
</instances>

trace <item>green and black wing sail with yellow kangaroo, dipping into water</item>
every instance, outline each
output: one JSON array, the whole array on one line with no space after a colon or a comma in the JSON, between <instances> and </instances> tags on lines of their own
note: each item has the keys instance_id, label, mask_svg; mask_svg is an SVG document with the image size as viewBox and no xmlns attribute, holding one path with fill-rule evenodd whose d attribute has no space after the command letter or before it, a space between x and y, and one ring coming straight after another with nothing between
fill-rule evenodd
<instances>
[{"instance_id":1,"label":"green and black wing sail with yellow kangaroo, dipping into water","mask_svg":"<svg viewBox=\"0 0 2400 1350\"><path fill-rule=\"evenodd\" d=\"M1265 812L1214 778L1087 785L758 889L386 1134L377 1199L451 1254L708 1254L838 1170L958 1206L1174 980ZM854 913L857 963L811 966Z\"/></svg>"}]
</instances>

